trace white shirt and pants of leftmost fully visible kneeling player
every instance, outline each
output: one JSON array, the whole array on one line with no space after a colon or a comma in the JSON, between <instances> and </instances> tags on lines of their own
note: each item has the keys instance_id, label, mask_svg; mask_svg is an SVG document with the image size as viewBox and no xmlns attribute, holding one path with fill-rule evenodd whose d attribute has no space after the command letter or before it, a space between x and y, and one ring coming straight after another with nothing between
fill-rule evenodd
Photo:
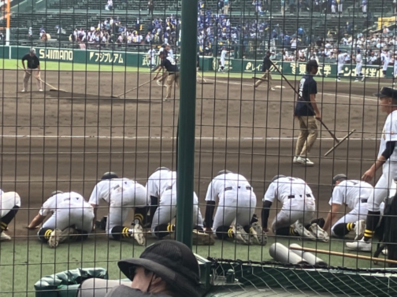
<instances>
[{"instance_id":1,"label":"white shirt and pants of leftmost fully visible kneeling player","mask_svg":"<svg viewBox=\"0 0 397 297\"><path fill-rule=\"evenodd\" d=\"M64 230L74 225L75 229L85 232L92 230L94 209L76 192L59 193L48 198L39 214L45 217L49 213L52 216L43 224L42 229Z\"/></svg>"}]
</instances>

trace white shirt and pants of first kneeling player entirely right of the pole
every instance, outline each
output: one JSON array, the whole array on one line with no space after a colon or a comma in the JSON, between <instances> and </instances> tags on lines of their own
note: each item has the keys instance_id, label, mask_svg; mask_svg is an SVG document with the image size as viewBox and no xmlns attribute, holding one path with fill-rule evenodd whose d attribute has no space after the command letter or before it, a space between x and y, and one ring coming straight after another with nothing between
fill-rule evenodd
<instances>
[{"instance_id":1,"label":"white shirt and pants of first kneeling player entirely right of the pole","mask_svg":"<svg viewBox=\"0 0 397 297\"><path fill-rule=\"evenodd\" d=\"M247 179L237 173L222 173L208 185L205 201L219 199L212 229L230 226L233 221L248 226L257 206L257 197Z\"/></svg>"}]
</instances>

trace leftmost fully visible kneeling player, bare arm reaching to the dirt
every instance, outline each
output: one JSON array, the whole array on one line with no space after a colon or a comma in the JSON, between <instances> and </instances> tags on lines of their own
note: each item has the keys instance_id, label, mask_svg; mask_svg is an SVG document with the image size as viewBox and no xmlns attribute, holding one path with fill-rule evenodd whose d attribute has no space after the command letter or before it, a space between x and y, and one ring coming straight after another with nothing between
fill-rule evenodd
<instances>
[{"instance_id":1,"label":"leftmost fully visible kneeling player, bare arm reaching to the dirt","mask_svg":"<svg viewBox=\"0 0 397 297\"><path fill-rule=\"evenodd\" d=\"M53 192L27 228L36 229L50 213L51 217L37 233L39 239L48 243L49 247L58 247L66 240L88 238L88 233L92 230L94 209L80 194Z\"/></svg>"}]
</instances>

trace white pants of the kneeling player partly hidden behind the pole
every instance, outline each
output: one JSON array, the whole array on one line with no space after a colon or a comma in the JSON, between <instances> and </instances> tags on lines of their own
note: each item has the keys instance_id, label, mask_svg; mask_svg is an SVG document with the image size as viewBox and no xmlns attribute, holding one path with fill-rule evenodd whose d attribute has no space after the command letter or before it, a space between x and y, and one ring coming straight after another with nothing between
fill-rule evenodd
<instances>
[{"instance_id":1,"label":"white pants of the kneeling player partly hidden behind the pole","mask_svg":"<svg viewBox=\"0 0 397 297\"><path fill-rule=\"evenodd\" d=\"M176 188L176 187L175 187ZM159 205L153 215L151 232L154 237L155 228L158 225L168 224L177 213L177 192L176 189L165 190L160 198ZM202 216L199 209L199 198L196 193L193 195L193 226L203 227Z\"/></svg>"}]
</instances>

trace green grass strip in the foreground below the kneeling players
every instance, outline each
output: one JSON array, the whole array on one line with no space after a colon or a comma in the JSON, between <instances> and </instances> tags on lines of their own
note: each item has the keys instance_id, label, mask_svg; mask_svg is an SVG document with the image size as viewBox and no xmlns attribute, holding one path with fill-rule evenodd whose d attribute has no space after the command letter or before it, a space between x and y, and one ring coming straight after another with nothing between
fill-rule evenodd
<instances>
[{"instance_id":1,"label":"green grass strip in the foreground below the kneeling players","mask_svg":"<svg viewBox=\"0 0 397 297\"><path fill-rule=\"evenodd\" d=\"M274 242L275 238L270 237L265 247L261 246L241 246L230 241L216 240L214 246L194 246L194 252L203 257L240 259L251 261L270 261L272 260L268 247ZM147 244L154 243L155 239L149 237ZM304 247L342 251L344 242L332 240L330 243L299 241L297 239L277 238L277 242L288 246L297 243ZM91 236L83 244L69 243L61 244L56 249L51 249L47 245L42 245L36 236L29 237L25 241L1 242L0 254L0 296L10 296L13 292L14 297L34 295L34 283L41 277L49 274L58 273L64 270L76 269L80 267L103 267L108 270L110 279L125 278L121 275L117 267L117 261L124 258L138 257L144 247L134 244L133 241L117 242L108 241L104 235ZM354 252L352 252L354 253ZM369 253L363 253L369 255ZM318 257L328 262L331 266L342 267L373 267L382 268L384 264L374 265L370 261L357 260L339 256L329 256L317 254Z\"/></svg>"}]
</instances>

